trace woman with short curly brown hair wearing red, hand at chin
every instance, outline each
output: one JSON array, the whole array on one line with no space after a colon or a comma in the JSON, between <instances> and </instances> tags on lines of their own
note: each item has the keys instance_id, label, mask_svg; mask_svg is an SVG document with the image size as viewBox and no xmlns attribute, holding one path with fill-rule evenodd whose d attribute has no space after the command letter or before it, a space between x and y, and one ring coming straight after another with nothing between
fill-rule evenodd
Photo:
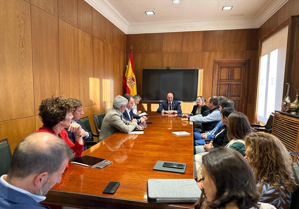
<instances>
[{"instance_id":1,"label":"woman with short curly brown hair wearing red, hand at chin","mask_svg":"<svg viewBox=\"0 0 299 209\"><path fill-rule=\"evenodd\" d=\"M74 107L69 98L52 96L43 100L39 106L39 117L44 125L36 132L48 132L59 136L73 150L75 157L80 157L84 142L81 126L77 123L71 123L73 111ZM70 132L75 132L75 144L68 138L68 133L64 128L68 128Z\"/></svg>"}]
</instances>

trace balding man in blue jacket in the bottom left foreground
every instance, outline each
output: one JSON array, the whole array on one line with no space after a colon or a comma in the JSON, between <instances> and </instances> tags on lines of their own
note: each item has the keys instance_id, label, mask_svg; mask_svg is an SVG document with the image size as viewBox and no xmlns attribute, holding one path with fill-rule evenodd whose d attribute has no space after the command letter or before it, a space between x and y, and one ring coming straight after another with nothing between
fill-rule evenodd
<instances>
[{"instance_id":1,"label":"balding man in blue jacket in the bottom left foreground","mask_svg":"<svg viewBox=\"0 0 299 209\"><path fill-rule=\"evenodd\" d=\"M74 153L58 136L33 133L15 148L9 172L0 178L0 208L49 208L39 202L60 183Z\"/></svg>"}]
</instances>

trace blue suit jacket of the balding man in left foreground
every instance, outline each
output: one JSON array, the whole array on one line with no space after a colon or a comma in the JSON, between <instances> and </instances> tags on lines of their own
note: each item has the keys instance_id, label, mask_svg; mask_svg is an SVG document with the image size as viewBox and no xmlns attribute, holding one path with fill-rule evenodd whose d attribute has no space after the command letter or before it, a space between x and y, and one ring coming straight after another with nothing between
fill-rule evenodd
<instances>
[{"instance_id":1,"label":"blue suit jacket of the balding man in left foreground","mask_svg":"<svg viewBox=\"0 0 299 209\"><path fill-rule=\"evenodd\" d=\"M36 202L32 197L11 189L0 182L0 209L50 209Z\"/></svg>"}]
</instances>

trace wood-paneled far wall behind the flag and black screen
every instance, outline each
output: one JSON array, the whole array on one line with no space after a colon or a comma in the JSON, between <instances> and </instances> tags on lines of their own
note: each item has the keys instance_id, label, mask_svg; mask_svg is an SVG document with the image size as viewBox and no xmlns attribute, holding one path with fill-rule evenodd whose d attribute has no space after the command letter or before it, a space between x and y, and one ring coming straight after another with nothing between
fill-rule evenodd
<instances>
[{"instance_id":1,"label":"wood-paneled far wall behind the flag and black screen","mask_svg":"<svg viewBox=\"0 0 299 209\"><path fill-rule=\"evenodd\" d=\"M214 59L250 59L249 83L255 83L257 41L258 29L130 34L127 35L126 52L128 58L132 45L137 93L140 96L143 68L199 68L202 73L200 92L208 99L212 93ZM256 86L249 85L247 114L250 121L253 121L255 92ZM182 111L191 112L194 104L182 103ZM155 111L157 104L141 102L138 108Z\"/></svg>"}]
</instances>

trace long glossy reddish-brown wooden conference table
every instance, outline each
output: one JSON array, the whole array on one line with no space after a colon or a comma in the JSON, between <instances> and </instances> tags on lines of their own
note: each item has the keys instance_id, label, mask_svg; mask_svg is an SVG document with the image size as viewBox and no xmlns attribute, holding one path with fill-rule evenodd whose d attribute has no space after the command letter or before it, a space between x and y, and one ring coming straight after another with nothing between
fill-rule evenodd
<instances>
[{"instance_id":1,"label":"long glossy reddish-brown wooden conference table","mask_svg":"<svg viewBox=\"0 0 299 209\"><path fill-rule=\"evenodd\" d=\"M178 114L152 112L144 134L115 133L84 151L113 161L104 169L69 163L60 184L55 185L44 203L77 208L194 208L193 204L147 202L148 179L193 179L193 126ZM191 122L192 123L192 122ZM171 132L187 131L188 136ZM186 163L186 173L152 170L157 160ZM115 194L103 194L110 181L120 182Z\"/></svg>"}]
</instances>

